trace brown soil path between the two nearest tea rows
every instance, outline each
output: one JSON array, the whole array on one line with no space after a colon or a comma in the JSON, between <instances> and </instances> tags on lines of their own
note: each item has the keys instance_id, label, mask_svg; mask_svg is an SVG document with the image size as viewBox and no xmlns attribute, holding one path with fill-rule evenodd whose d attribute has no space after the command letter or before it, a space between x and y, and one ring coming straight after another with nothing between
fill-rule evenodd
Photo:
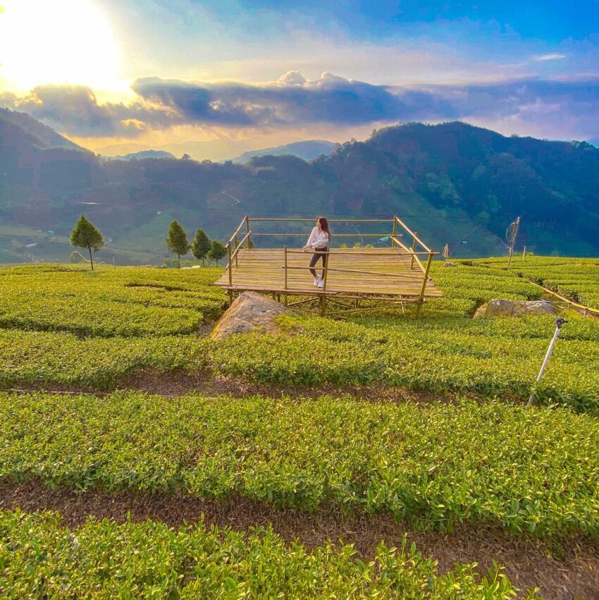
<instances>
[{"instance_id":1,"label":"brown soil path between the two nearest tea rows","mask_svg":"<svg viewBox=\"0 0 599 600\"><path fill-rule=\"evenodd\" d=\"M379 541L401 546L406 534L409 544L414 541L424 556L438 561L440 573L452 569L455 563L476 562L484 574L496 561L521 590L539 587L544 598L555 600L599 598L599 542L582 537L548 544L491 525L463 525L451 534L418 532L385 515L344 515L338 508L307 513L282 510L238 495L216 501L140 491L78 492L50 489L35 480L24 484L0 481L0 506L20 507L27 512L58 510L64 525L71 528L82 525L89 515L116 522L125 522L130 515L134 521L152 519L173 527L203 518L208 526L231 527L240 532L252 526L272 525L285 541L299 541L307 549L328 540L354 544L357 556L364 561L373 558Z\"/></svg>"}]
</instances>

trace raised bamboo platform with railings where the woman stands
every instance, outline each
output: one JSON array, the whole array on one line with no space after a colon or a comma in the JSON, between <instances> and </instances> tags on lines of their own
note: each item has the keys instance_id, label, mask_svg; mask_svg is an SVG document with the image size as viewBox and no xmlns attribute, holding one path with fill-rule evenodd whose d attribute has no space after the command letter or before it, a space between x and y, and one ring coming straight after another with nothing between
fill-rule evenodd
<instances>
[{"instance_id":1,"label":"raised bamboo platform with railings where the woman stands","mask_svg":"<svg viewBox=\"0 0 599 600\"><path fill-rule=\"evenodd\" d=\"M314 219L251 218L245 216L233 232L227 247L225 273L216 281L228 290L231 302L244 291L271 294L295 310L316 311L323 316L343 317L373 310L381 305L416 305L418 317L427 298L441 293L429 278L433 257L438 254L426 246L418 234L401 219L329 219L343 224L385 224L385 233L338 233L334 238L377 237L391 240L390 247L329 248L323 271L323 287L313 285L308 270L309 255L317 250L283 247L256 248L252 238L299 237L303 233L256 231L261 223L313 222ZM240 232L245 233L240 238ZM402 239L407 238L404 243ZM295 300L293 300L295 298ZM290 300L291 299L291 300ZM348 304L350 302L350 304ZM360 304L362 302L362 305Z\"/></svg>"}]
</instances>

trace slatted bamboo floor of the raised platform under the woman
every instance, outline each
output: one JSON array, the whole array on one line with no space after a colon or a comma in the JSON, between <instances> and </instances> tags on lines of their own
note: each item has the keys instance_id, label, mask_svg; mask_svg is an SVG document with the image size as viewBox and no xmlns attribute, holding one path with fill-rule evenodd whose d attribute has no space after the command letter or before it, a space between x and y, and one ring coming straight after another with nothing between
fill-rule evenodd
<instances>
[{"instance_id":1,"label":"slatted bamboo floor of the raised platform under the woman","mask_svg":"<svg viewBox=\"0 0 599 600\"><path fill-rule=\"evenodd\" d=\"M285 255L283 249L240 249L237 264L216 281L234 292L257 291L289 295L326 295L360 298L396 298L404 302L418 300L423 273L411 257L397 248L333 248L328 253L326 289L314 287L308 266L310 254L288 252L287 287L285 288ZM316 265L321 272L322 262ZM359 272L366 271L366 272ZM438 298L442 293L432 281L426 283L425 298Z\"/></svg>"}]
</instances>

